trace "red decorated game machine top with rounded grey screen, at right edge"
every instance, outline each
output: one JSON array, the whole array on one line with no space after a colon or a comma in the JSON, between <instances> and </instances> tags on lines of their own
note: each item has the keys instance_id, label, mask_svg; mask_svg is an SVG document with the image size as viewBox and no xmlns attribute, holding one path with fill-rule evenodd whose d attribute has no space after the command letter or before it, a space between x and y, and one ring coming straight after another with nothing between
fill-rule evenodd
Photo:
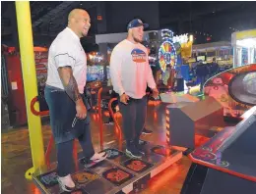
<instances>
[{"instance_id":1,"label":"red decorated game machine top with rounded grey screen, at right edge","mask_svg":"<svg viewBox=\"0 0 256 194\"><path fill-rule=\"evenodd\" d=\"M225 119L241 119L256 104L256 64L219 73L204 85L205 96L212 96L224 107Z\"/></svg>"}]
</instances>

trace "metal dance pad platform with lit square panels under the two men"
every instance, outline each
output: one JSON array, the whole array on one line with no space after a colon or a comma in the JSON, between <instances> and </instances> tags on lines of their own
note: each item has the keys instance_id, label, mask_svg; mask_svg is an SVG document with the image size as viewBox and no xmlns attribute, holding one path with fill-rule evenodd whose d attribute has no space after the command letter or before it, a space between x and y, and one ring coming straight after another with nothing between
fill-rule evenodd
<instances>
[{"instance_id":1,"label":"metal dance pad platform with lit square panels under the two men","mask_svg":"<svg viewBox=\"0 0 256 194\"><path fill-rule=\"evenodd\" d=\"M125 154L126 146L107 148L106 160L93 167L85 168L82 153L79 154L78 170L72 174L76 183L73 194L116 194L129 193L145 188L149 179L165 170L182 157L180 151L169 147L142 142L146 153L142 159L129 158ZM81 156L81 157L80 157ZM42 193L64 194L57 181L56 170L42 174L33 174L33 181Z\"/></svg>"}]
</instances>

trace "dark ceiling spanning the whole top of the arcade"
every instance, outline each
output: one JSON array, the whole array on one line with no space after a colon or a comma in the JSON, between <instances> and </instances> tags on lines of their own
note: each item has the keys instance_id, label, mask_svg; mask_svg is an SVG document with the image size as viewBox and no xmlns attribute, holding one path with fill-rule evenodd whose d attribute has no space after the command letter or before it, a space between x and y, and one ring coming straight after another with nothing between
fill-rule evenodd
<instances>
[{"instance_id":1,"label":"dark ceiling spanning the whole top of the arcade","mask_svg":"<svg viewBox=\"0 0 256 194\"><path fill-rule=\"evenodd\" d=\"M49 42L67 24L67 15L74 8L88 10L92 18L90 34L97 33L96 7L99 1L31 1L33 36ZM116 2L104 2L106 5ZM135 4L136 2L131 2ZM142 12L147 11L147 4ZM119 2L121 7L122 3ZM105 6L106 14L113 12ZM120 8L124 9L124 8ZM237 30L256 28L256 2L160 2L160 28L171 28L176 34L190 32L197 36L197 43L204 43L206 36L211 41L229 40L230 34ZM16 10L14 2L1 2L1 39L2 42L11 42L17 38ZM151 13L149 13L150 15ZM122 17L122 16L119 16ZM106 17L107 18L107 17ZM150 19L151 20L151 19ZM107 24L114 23L107 21ZM109 25L109 26L110 26ZM112 25L111 25L112 26ZM112 32L107 28L107 33ZM123 31L120 31L123 32ZM201 34L199 34L201 32ZM205 35L204 35L205 34ZM202 37L201 37L202 36ZM90 38L88 38L90 39ZM17 42L17 41L16 41Z\"/></svg>"}]
</instances>

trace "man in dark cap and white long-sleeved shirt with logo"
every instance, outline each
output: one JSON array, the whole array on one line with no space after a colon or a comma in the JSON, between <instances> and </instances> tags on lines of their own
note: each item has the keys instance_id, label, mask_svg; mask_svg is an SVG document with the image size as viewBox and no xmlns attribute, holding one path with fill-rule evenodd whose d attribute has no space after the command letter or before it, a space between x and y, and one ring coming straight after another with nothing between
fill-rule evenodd
<instances>
[{"instance_id":1,"label":"man in dark cap and white long-sleeved shirt with logo","mask_svg":"<svg viewBox=\"0 0 256 194\"><path fill-rule=\"evenodd\" d=\"M110 59L110 77L114 91L119 94L118 104L123 117L126 154L133 158L142 158L144 154L139 139L147 115L147 84L155 98L159 95L148 51L141 44L147 26L139 19L131 21L127 26L127 38L114 47Z\"/></svg>"}]
</instances>

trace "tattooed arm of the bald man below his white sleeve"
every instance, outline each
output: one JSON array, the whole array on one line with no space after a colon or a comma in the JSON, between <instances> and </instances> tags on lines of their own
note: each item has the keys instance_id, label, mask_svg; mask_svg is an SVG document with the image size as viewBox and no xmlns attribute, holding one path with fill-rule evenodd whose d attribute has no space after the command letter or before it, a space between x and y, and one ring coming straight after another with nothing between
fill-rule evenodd
<instances>
[{"instance_id":1,"label":"tattooed arm of the bald man below his white sleeve","mask_svg":"<svg viewBox=\"0 0 256 194\"><path fill-rule=\"evenodd\" d=\"M81 95L78 90L78 83L73 75L71 67L61 67L58 69L58 72L65 91L69 97L74 102L81 99Z\"/></svg>"}]
</instances>

